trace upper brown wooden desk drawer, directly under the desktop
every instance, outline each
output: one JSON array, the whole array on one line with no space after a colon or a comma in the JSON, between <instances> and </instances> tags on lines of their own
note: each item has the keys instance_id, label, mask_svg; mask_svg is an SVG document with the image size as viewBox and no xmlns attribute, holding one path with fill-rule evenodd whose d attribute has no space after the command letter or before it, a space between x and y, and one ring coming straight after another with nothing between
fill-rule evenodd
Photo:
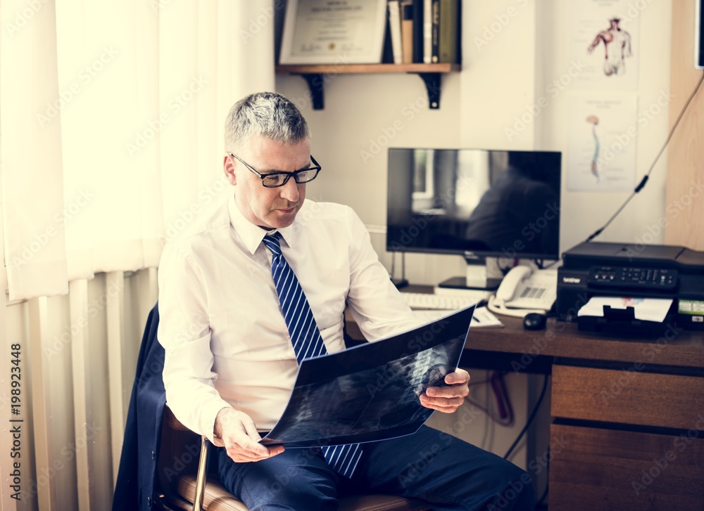
<instances>
[{"instance_id":1,"label":"upper brown wooden desk drawer, directly under the desktop","mask_svg":"<svg viewBox=\"0 0 704 511\"><path fill-rule=\"evenodd\" d=\"M551 401L553 417L704 427L702 377L555 365Z\"/></svg>"}]
</instances>

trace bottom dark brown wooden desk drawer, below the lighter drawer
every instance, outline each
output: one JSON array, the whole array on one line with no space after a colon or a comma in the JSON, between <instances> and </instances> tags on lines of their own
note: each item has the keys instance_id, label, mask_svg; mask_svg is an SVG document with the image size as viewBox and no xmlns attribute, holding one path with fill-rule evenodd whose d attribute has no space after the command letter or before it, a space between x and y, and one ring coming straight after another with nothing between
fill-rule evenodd
<instances>
[{"instance_id":1,"label":"bottom dark brown wooden desk drawer, below the lighter drawer","mask_svg":"<svg viewBox=\"0 0 704 511\"><path fill-rule=\"evenodd\" d=\"M551 510L701 511L704 439L552 425Z\"/></svg>"}]
</instances>

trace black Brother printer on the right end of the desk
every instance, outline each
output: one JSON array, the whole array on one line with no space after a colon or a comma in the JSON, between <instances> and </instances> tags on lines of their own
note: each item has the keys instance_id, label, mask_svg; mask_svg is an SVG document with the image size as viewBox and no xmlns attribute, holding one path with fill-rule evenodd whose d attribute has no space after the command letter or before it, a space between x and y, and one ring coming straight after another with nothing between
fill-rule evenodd
<instances>
[{"instance_id":1,"label":"black Brother printer on the right end of the desk","mask_svg":"<svg viewBox=\"0 0 704 511\"><path fill-rule=\"evenodd\" d=\"M672 299L657 324L634 309L603 306L603 317L578 316L592 297ZM607 310L608 309L608 310ZM704 330L704 252L669 245L584 242L562 254L555 313L580 330L659 334L666 325Z\"/></svg>"}]
</instances>

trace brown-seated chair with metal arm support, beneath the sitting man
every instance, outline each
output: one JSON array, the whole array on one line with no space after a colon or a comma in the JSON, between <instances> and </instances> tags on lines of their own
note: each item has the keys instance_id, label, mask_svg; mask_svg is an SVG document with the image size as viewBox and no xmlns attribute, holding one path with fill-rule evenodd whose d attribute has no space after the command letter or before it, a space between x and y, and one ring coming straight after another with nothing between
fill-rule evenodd
<instances>
[{"instance_id":1,"label":"brown-seated chair with metal arm support, beneath the sitting man","mask_svg":"<svg viewBox=\"0 0 704 511\"><path fill-rule=\"evenodd\" d=\"M164 511L248 511L219 481L207 481L206 437L191 432L164 408L157 474ZM340 511L432 511L420 500L392 495L359 495L342 498Z\"/></svg>"}]
</instances>

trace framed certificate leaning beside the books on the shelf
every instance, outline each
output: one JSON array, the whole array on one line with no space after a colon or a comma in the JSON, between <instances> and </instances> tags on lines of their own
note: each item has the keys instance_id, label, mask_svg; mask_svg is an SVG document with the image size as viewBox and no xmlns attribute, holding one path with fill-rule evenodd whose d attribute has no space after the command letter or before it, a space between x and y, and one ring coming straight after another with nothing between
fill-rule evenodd
<instances>
[{"instance_id":1,"label":"framed certificate leaning beside the books on the shelf","mask_svg":"<svg viewBox=\"0 0 704 511\"><path fill-rule=\"evenodd\" d=\"M378 64L386 0L289 0L281 64Z\"/></svg>"}]
</instances>

